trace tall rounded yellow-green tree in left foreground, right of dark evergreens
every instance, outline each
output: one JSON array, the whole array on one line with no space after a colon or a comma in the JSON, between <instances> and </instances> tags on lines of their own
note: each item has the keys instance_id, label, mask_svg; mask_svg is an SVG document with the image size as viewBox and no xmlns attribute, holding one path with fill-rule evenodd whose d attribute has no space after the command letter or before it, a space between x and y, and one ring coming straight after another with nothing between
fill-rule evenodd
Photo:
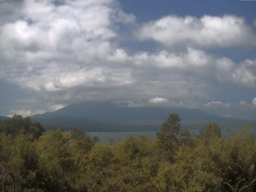
<instances>
[{"instance_id":1,"label":"tall rounded yellow-green tree in left foreground, right of dark evergreens","mask_svg":"<svg viewBox=\"0 0 256 192\"><path fill-rule=\"evenodd\" d=\"M62 129L47 131L40 136L37 149L39 154L38 169L41 188L46 191L71 191L74 177L74 160L69 152L69 134Z\"/></svg>"}]
</instances>

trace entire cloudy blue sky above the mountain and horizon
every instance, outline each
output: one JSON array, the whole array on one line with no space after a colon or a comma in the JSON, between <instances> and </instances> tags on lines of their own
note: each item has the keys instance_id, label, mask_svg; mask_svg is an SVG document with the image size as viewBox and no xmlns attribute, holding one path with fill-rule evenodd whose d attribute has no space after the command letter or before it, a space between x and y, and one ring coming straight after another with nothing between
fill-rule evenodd
<instances>
[{"instance_id":1,"label":"entire cloudy blue sky above the mountain and horizon","mask_svg":"<svg viewBox=\"0 0 256 192\"><path fill-rule=\"evenodd\" d=\"M0 0L0 115L71 103L256 117L256 1Z\"/></svg>"}]
</instances>

